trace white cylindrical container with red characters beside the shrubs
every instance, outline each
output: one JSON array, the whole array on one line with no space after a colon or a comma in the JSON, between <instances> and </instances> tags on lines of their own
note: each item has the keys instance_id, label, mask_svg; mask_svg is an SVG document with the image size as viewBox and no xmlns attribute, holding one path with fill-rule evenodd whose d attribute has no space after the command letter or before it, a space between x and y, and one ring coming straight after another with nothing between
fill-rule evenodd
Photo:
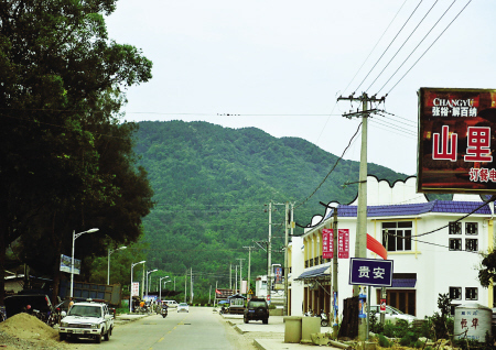
<instances>
[{"instance_id":1,"label":"white cylindrical container with red characters beside the shrubs","mask_svg":"<svg viewBox=\"0 0 496 350\"><path fill-rule=\"evenodd\" d=\"M455 308L454 339L484 342L486 333L492 335L493 310L481 304L465 304Z\"/></svg>"}]
</instances>

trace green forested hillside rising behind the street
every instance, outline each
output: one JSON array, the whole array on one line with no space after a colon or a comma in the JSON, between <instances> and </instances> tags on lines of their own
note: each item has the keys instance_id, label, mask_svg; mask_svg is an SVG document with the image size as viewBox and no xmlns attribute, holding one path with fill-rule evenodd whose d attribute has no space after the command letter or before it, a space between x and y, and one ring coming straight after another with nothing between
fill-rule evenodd
<instances>
[{"instance_id":1,"label":"green forested hillside rising behind the street","mask_svg":"<svg viewBox=\"0 0 496 350\"><path fill-rule=\"evenodd\" d=\"M228 287L229 264L239 264L237 259L246 259L246 278L248 251L242 247L267 240L269 201L295 203L295 221L305 226L312 215L323 214L319 201L349 203L356 196L356 185L343 185L358 179L358 163L342 160L301 205L337 160L302 139L277 139L255 128L234 130L206 122L140 122L139 127L134 151L155 201L143 220L147 265L175 276L192 267L195 298L216 282ZM374 164L368 173L390 182L406 178ZM274 208L272 221L281 225L272 228L273 249L280 250L284 207ZM296 228L295 234L302 231ZM276 252L272 262L282 263L283 254ZM265 274L266 266L266 253L255 250L252 275Z\"/></svg>"}]
</instances>

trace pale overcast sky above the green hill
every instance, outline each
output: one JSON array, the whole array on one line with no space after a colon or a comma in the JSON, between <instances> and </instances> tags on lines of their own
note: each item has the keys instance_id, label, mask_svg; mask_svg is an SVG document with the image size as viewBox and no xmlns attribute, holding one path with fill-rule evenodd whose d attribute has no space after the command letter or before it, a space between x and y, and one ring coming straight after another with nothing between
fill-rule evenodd
<instances>
[{"instance_id":1,"label":"pale overcast sky above the green hill","mask_svg":"<svg viewBox=\"0 0 496 350\"><path fill-rule=\"evenodd\" d=\"M153 78L128 88L127 121L207 121L305 139L417 172L421 87L496 88L494 0L119 0L108 35L140 48ZM451 24L450 24L451 23ZM349 147L348 144L351 144ZM330 164L330 168L333 164Z\"/></svg>"}]
</instances>

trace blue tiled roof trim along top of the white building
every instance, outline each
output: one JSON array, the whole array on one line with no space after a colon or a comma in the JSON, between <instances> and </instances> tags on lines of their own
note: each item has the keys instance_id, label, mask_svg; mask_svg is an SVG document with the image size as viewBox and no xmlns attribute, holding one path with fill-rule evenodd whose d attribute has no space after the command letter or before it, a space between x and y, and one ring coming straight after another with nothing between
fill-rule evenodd
<instances>
[{"instance_id":1,"label":"blue tiled roof trim along top of the white building","mask_svg":"<svg viewBox=\"0 0 496 350\"><path fill-rule=\"evenodd\" d=\"M433 200L428 203L416 203L408 205L389 205L389 206L369 206L367 208L367 217L393 217L393 216L413 216L425 212L454 212L468 214L479 207L482 201L452 201L452 200ZM332 217L334 210L325 219ZM356 217L357 207L339 205L337 207L338 217ZM479 208L474 214L490 215L488 205Z\"/></svg>"}]
</instances>

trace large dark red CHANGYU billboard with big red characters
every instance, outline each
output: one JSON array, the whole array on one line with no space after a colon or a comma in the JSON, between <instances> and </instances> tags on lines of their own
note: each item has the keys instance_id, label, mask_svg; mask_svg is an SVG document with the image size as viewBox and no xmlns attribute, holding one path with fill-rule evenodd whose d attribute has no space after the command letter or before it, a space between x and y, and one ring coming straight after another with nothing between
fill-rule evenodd
<instances>
[{"instance_id":1,"label":"large dark red CHANGYU billboard with big red characters","mask_svg":"<svg viewBox=\"0 0 496 350\"><path fill-rule=\"evenodd\" d=\"M496 89L421 88L417 190L496 194L495 131Z\"/></svg>"}]
</instances>

